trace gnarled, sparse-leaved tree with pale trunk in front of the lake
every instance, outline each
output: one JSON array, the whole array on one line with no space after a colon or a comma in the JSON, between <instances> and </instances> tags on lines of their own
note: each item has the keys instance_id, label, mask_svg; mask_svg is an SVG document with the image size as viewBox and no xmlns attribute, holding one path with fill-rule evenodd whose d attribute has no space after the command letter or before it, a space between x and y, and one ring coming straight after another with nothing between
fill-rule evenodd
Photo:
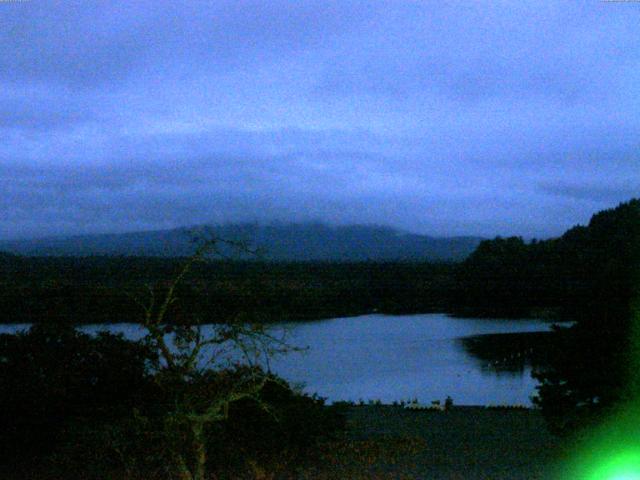
<instances>
[{"instance_id":1,"label":"gnarled, sparse-leaved tree with pale trunk in front of the lake","mask_svg":"<svg viewBox=\"0 0 640 480\"><path fill-rule=\"evenodd\" d=\"M147 299L137 299L148 331L143 343L157 354L153 370L164 404L164 430L170 440L184 440L167 442L182 480L205 479L211 427L229 418L232 404L251 400L271 412L261 392L280 380L269 373L269 359L294 350L283 337L245 318L208 326L200 318L181 323L168 318L194 264L219 255L221 243L248 252L243 244L209 237L164 288L149 287Z\"/></svg>"}]
</instances>

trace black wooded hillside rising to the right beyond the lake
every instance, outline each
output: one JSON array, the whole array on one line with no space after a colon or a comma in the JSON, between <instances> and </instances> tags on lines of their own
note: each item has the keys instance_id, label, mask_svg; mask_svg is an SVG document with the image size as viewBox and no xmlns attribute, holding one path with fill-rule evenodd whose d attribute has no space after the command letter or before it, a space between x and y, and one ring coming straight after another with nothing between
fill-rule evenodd
<instances>
[{"instance_id":1,"label":"black wooded hillside rising to the right beyond the lake","mask_svg":"<svg viewBox=\"0 0 640 480\"><path fill-rule=\"evenodd\" d=\"M461 315L626 318L640 265L640 200L593 215L559 238L485 240L459 267Z\"/></svg>"}]
</instances>

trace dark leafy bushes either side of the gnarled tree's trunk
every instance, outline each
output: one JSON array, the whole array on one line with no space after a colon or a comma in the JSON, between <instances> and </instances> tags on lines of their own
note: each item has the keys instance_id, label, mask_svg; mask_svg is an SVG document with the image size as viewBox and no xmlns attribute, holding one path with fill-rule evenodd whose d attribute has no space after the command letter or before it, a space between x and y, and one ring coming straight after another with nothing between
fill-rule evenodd
<instances>
[{"instance_id":1,"label":"dark leafy bushes either side of the gnarled tree's trunk","mask_svg":"<svg viewBox=\"0 0 640 480\"><path fill-rule=\"evenodd\" d=\"M247 372L209 370L171 384L156 381L154 360L141 343L68 325L1 335L0 475L174 478L174 455L191 441L185 425L171 423L176 404L206 404ZM232 404L228 419L209 429L208 468L219 478L289 468L343 428L336 407L272 377L259 404Z\"/></svg>"}]
</instances>

